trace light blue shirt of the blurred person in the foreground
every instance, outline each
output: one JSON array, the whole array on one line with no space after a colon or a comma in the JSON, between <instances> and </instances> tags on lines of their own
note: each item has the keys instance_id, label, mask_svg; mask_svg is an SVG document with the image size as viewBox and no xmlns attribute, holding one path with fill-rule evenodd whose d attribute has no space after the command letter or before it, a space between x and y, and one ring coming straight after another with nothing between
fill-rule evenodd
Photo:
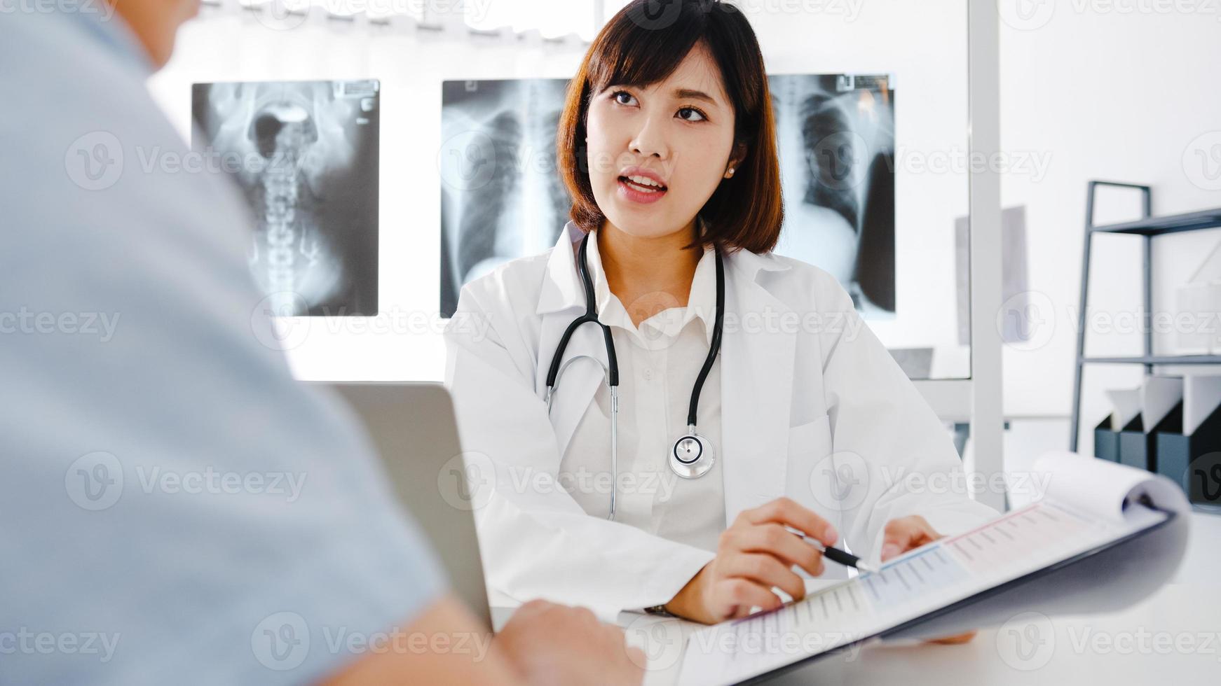
<instances>
[{"instance_id":1,"label":"light blue shirt of the blurred person in the foreground","mask_svg":"<svg viewBox=\"0 0 1221 686\"><path fill-rule=\"evenodd\" d=\"M440 569L291 378L236 191L142 164L188 152L147 54L74 6L0 13L0 684L322 679Z\"/></svg>"}]
</instances>

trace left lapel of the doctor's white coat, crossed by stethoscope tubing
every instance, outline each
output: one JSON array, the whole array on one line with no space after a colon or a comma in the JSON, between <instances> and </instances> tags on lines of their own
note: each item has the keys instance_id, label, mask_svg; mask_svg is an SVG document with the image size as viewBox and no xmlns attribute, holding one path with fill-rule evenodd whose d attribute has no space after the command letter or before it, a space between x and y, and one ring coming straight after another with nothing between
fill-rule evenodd
<instances>
[{"instance_id":1,"label":"left lapel of the doctor's white coat, crossed by stethoscope tubing","mask_svg":"<svg viewBox=\"0 0 1221 686\"><path fill-rule=\"evenodd\" d=\"M538 366L535 370L535 389L540 397L547 391L547 370L564 330L573 319L585 312L585 292L573 258L573 244L584 235L576 224L568 222L564 230L559 232L559 240L547 260L547 278L543 280L535 311L542 316L538 333ZM573 333L564 351L564 361L578 355L592 355L602 364L607 363L606 345L598 327L582 324ZM604 383L602 368L589 359L574 362L560 377L551 413L559 454L568 451L568 442L573 439L576 424L593 401L598 384L602 383Z\"/></svg>"}]
</instances>

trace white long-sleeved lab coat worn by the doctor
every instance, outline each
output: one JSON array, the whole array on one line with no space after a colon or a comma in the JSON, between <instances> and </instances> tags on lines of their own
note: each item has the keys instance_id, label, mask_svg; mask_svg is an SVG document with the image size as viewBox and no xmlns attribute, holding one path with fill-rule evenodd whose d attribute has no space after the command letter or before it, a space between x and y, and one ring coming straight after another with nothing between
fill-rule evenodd
<instances>
[{"instance_id":1,"label":"white long-sleeved lab coat worn by the doctor","mask_svg":"<svg viewBox=\"0 0 1221 686\"><path fill-rule=\"evenodd\" d=\"M553 481L603 383L597 366L573 364L548 417L551 357L585 311L573 255L582 235L569 222L554 249L462 289L444 336L446 385L476 487L490 590L610 619L669 601L713 553L586 514ZM788 496L834 524L840 543L878 562L890 519L921 514L954 534L996 514L946 489L946 476L962 470L947 431L830 274L773 253L736 251L724 262L717 459L726 526L741 511ZM606 362L597 327L573 335L565 359L580 353ZM607 469L609 459L608 446ZM901 479L933 474L916 487ZM845 576L841 565L825 565L824 579Z\"/></svg>"}]
</instances>

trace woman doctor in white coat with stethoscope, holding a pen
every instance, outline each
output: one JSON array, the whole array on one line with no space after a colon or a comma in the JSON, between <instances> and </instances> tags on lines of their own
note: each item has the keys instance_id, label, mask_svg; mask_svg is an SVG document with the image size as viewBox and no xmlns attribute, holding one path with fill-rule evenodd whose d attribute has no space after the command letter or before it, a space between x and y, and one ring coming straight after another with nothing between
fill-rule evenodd
<instances>
[{"instance_id":1,"label":"woman doctor in white coat with stethoscope, holding a pen","mask_svg":"<svg viewBox=\"0 0 1221 686\"><path fill-rule=\"evenodd\" d=\"M790 528L875 564L996 513L921 487L961 470L947 433L834 278L770 252L746 18L646 5L570 83L571 221L462 289L446 384L495 591L716 623L846 578Z\"/></svg>"}]
</instances>

